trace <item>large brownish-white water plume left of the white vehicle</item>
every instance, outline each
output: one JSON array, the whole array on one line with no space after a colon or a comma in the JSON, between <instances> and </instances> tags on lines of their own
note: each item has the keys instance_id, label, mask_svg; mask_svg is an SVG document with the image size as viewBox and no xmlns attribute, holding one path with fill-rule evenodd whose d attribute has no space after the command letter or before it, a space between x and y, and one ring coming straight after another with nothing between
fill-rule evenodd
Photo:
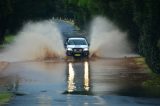
<instances>
[{"instance_id":1,"label":"large brownish-white water plume left of the white vehicle","mask_svg":"<svg viewBox=\"0 0 160 106\"><path fill-rule=\"evenodd\" d=\"M26 61L63 57L65 52L61 37L53 21L29 22L0 58L3 61Z\"/></svg>"}]
</instances>

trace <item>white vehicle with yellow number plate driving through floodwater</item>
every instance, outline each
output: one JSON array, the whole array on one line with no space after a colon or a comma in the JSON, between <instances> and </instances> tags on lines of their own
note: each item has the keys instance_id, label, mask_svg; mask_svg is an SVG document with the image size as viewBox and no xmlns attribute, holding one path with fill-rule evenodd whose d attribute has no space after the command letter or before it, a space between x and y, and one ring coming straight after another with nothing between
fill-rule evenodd
<instances>
[{"instance_id":1,"label":"white vehicle with yellow number plate driving through floodwater","mask_svg":"<svg viewBox=\"0 0 160 106\"><path fill-rule=\"evenodd\" d=\"M69 37L65 42L66 55L74 57L87 57L89 44L84 37Z\"/></svg>"}]
</instances>

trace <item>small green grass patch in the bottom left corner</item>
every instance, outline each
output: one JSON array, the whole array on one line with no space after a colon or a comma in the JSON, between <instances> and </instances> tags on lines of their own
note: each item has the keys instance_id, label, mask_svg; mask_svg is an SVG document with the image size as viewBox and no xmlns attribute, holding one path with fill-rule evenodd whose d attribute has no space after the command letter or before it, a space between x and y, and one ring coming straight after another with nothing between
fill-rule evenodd
<instances>
[{"instance_id":1,"label":"small green grass patch in the bottom left corner","mask_svg":"<svg viewBox=\"0 0 160 106\"><path fill-rule=\"evenodd\" d=\"M0 106L9 102L12 97L13 97L12 93L0 92Z\"/></svg>"}]
</instances>

